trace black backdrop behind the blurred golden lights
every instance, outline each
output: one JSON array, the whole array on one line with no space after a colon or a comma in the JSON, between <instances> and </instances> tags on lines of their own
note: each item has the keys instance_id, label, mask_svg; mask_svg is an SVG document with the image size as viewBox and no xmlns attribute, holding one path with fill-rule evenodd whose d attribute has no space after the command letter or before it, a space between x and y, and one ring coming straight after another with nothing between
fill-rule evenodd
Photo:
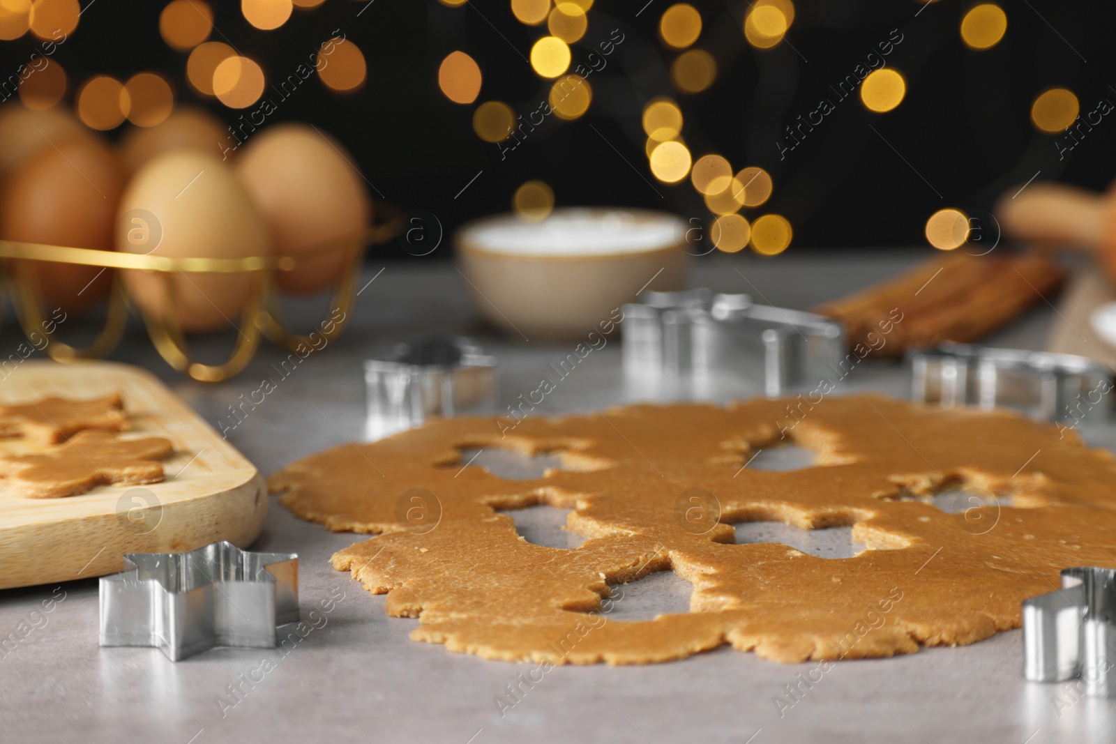
<instances>
[{"instance_id":1,"label":"black backdrop behind the blurred golden lights","mask_svg":"<svg viewBox=\"0 0 1116 744\"><path fill-rule=\"evenodd\" d=\"M934 211L958 206L988 220L995 196L1037 171L1040 178L1095 189L1114 175L1116 116L1059 161L1057 137L1038 132L1029 115L1033 98L1050 86L1071 89L1083 114L1101 98L1116 102L1109 86L1116 84L1113 3L1003 2L1007 35L995 47L974 51L959 33L970 2L799 0L787 40L764 51L744 40L744 0L692 0L704 21L694 46L715 57L719 71L708 90L683 95L667 74L677 52L657 39L658 18L672 3L644 2L596 1L588 33L573 47L574 65L613 29L625 40L607 67L593 74L589 112L576 122L548 117L506 160L500 147L473 133L475 105L499 99L526 114L546 99L550 85L525 59L546 26L521 25L507 0L470 0L458 8L436 0L326 0L314 10L296 9L273 31L250 27L239 2L217 0L218 32L210 38L259 61L270 80L291 73L340 29L365 55L364 87L338 95L310 80L279 104L268 124L299 119L334 133L385 201L436 216L446 234L464 221L508 210L516 187L530 178L549 183L559 205L647 206L709 218L689 180L672 186L650 173L641 113L658 95L681 104L683 137L695 157L720 153L734 168L759 165L771 173L771 200L747 214L787 216L795 229L790 250L924 243L923 226ZM56 54L69 76L68 97L89 75L126 79L156 69L171 79L179 103L205 105L234 123L241 112L204 100L185 83L186 55L158 35L162 4L83 2L77 30ZM903 41L887 64L907 81L898 108L872 114L849 97L780 160L776 141L785 127L821 97L833 99L828 86L852 74L893 29ZM16 69L36 46L30 36L2 42L0 62ZM455 49L483 71L474 105L453 104L439 90L437 67ZM269 95L279 100L267 89ZM404 257L407 249L396 241L376 253ZM449 253L445 240L434 255Z\"/></svg>"}]
</instances>

